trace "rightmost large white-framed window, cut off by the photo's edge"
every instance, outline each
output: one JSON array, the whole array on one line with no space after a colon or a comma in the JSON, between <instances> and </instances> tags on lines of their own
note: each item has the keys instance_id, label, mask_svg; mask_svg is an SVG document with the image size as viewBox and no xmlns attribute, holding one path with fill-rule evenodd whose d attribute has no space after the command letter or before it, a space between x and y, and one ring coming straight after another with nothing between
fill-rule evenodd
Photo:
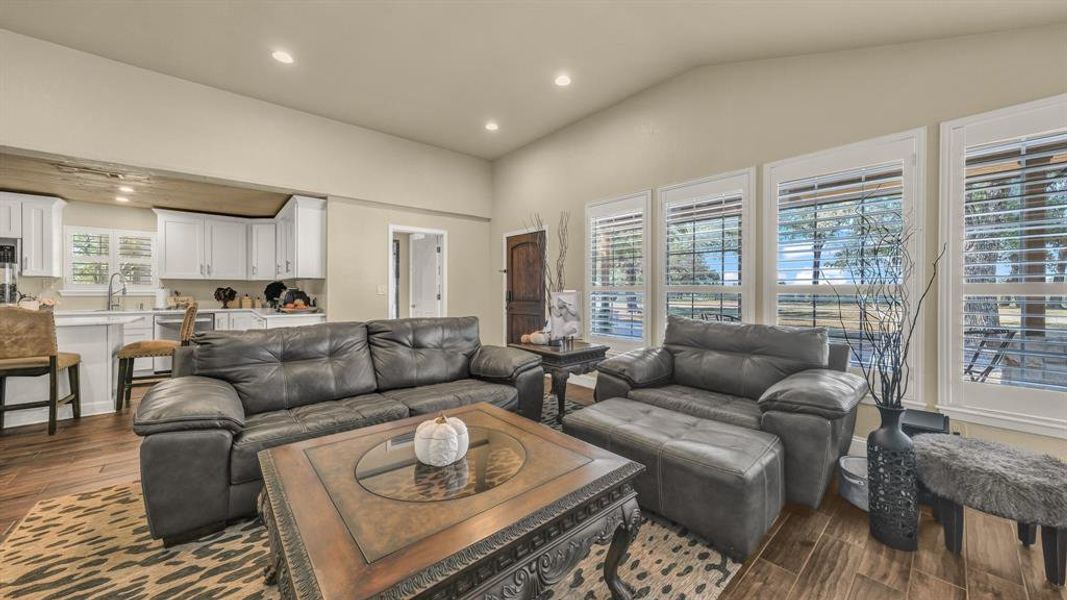
<instances>
[{"instance_id":1,"label":"rightmost large white-framed window, cut off by the photo's edge","mask_svg":"<svg viewBox=\"0 0 1067 600\"><path fill-rule=\"evenodd\" d=\"M1067 95L941 126L941 409L1067 438Z\"/></svg>"}]
</instances>

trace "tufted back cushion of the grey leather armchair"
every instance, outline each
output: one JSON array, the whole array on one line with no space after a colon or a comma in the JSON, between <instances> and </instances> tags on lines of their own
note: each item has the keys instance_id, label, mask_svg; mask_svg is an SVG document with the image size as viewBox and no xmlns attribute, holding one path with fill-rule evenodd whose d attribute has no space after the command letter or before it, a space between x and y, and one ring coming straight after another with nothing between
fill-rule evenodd
<instances>
[{"instance_id":1,"label":"tufted back cushion of the grey leather armchair","mask_svg":"<svg viewBox=\"0 0 1067 600\"><path fill-rule=\"evenodd\" d=\"M823 328L667 318L664 346L674 354L674 382L758 399L794 373L825 368Z\"/></svg>"}]
</instances>

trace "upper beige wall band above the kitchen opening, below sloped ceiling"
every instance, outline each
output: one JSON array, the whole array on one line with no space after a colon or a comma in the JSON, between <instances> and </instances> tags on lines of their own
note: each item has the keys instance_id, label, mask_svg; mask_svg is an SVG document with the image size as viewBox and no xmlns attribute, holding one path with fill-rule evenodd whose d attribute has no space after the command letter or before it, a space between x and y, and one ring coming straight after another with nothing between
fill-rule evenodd
<instances>
[{"instance_id":1,"label":"upper beige wall band above the kitchen opening, below sloped ceiling","mask_svg":"<svg viewBox=\"0 0 1067 600\"><path fill-rule=\"evenodd\" d=\"M0 146L287 191L490 214L485 160L5 30L0 30Z\"/></svg>"}]
</instances>

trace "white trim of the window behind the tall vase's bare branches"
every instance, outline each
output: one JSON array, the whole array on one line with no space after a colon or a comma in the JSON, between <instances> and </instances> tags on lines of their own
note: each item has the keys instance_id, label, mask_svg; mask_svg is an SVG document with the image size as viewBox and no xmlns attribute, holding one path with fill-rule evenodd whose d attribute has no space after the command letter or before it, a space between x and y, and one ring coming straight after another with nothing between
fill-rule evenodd
<instances>
[{"instance_id":1,"label":"white trim of the window behind the tall vase's bare branches","mask_svg":"<svg viewBox=\"0 0 1067 600\"><path fill-rule=\"evenodd\" d=\"M763 315L762 322L774 325L778 320L778 295L783 293L813 294L819 291L814 285L778 285L778 184L805 176L865 165L881 164L904 158L904 211L905 225L912 228L911 256L915 262L911 281L905 282L913 291L926 280L926 258L923 251L925 239L924 212L926 207L925 173L926 129L919 127L891 133L813 154L796 156L763 168ZM825 291L831 293L829 286ZM839 289L845 286L838 286ZM921 290L920 290L921 291ZM911 381L905 406L924 408L923 397L923 332L929 317L927 304L915 328L911 341Z\"/></svg>"}]
</instances>

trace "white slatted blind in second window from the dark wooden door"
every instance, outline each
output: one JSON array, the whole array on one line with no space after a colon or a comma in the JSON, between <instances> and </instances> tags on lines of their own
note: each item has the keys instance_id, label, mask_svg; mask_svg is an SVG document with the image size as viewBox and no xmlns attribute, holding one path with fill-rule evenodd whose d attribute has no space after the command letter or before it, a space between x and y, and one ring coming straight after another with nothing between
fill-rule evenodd
<instances>
[{"instance_id":1,"label":"white slatted blind in second window from the dark wooden door","mask_svg":"<svg viewBox=\"0 0 1067 600\"><path fill-rule=\"evenodd\" d=\"M754 170L659 189L663 312L703 320L753 320L749 279Z\"/></svg>"}]
</instances>

